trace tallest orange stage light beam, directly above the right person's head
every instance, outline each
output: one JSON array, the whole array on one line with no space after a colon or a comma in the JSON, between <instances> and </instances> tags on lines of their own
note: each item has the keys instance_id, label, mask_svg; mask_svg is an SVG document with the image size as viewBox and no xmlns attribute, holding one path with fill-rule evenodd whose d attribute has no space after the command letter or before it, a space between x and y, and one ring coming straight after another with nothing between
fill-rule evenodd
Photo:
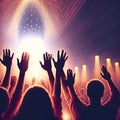
<instances>
[{"instance_id":1,"label":"tallest orange stage light beam, directly above the right person's head","mask_svg":"<svg viewBox=\"0 0 120 120\"><path fill-rule=\"evenodd\" d=\"M100 78L100 57L98 55L95 56L95 64L94 64L94 78Z\"/></svg>"}]
</instances>

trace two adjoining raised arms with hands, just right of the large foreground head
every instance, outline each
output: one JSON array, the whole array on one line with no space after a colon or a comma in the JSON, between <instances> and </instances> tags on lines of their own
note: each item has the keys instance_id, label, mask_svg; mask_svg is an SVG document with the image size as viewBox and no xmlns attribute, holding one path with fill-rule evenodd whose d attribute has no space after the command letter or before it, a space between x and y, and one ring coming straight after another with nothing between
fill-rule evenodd
<instances>
[{"instance_id":1,"label":"two adjoining raised arms with hands, just right of the large foreground head","mask_svg":"<svg viewBox=\"0 0 120 120\"><path fill-rule=\"evenodd\" d=\"M55 115L62 120L62 101L61 101L61 83L60 77L65 65L65 62L68 58L66 52L62 50L57 52L57 60L53 58L53 63L56 69L56 76L53 76L51 59L52 55L47 52L43 54L44 64L40 61L41 67L47 71L50 82L50 95L52 96L52 103L54 108Z\"/></svg>"}]
</instances>

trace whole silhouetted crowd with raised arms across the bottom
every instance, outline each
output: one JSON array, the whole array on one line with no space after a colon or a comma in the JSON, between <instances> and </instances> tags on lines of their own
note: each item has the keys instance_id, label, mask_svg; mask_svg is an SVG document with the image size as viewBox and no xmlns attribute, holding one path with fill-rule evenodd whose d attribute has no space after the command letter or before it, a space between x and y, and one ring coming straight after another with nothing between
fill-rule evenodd
<instances>
[{"instance_id":1,"label":"whole silhouetted crowd with raised arms across the bottom","mask_svg":"<svg viewBox=\"0 0 120 120\"><path fill-rule=\"evenodd\" d=\"M30 55L23 52L21 60L17 59L18 80L10 74L13 57L14 53L11 53L10 49L4 49L3 58L0 59L6 67L0 86L0 120L63 120L64 106L61 97L66 100L72 120L117 120L120 93L105 66L101 67L100 74L110 87L110 100L104 105L101 104L105 87L100 80L95 79L87 84L89 104L86 105L76 94L75 73L68 69L67 75L65 74L64 66L68 56L64 50L57 52L57 60L46 52L43 54L44 63L38 61L48 74L49 89L41 84L26 86L27 89L24 90ZM55 76L52 72L52 61L56 69ZM61 92L64 96L61 96Z\"/></svg>"}]
</instances>

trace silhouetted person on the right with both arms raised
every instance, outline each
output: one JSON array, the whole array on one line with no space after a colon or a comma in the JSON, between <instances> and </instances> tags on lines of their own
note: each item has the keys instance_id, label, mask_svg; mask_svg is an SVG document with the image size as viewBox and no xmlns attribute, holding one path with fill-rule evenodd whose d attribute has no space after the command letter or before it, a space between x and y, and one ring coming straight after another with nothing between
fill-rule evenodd
<instances>
[{"instance_id":1,"label":"silhouetted person on the right with both arms raised","mask_svg":"<svg viewBox=\"0 0 120 120\"><path fill-rule=\"evenodd\" d=\"M104 85L99 80L93 80L87 85L87 95L90 99L90 104L87 106L80 101L74 90L75 75L72 70L67 71L67 80L63 83L63 88L68 86L71 100L69 107L72 111L74 120L116 120L119 109L119 91L111 80L111 75L105 66L101 68L101 76L107 80L111 89L110 101L105 105L101 104L101 98L104 94ZM68 93L65 93L66 95Z\"/></svg>"}]
</instances>

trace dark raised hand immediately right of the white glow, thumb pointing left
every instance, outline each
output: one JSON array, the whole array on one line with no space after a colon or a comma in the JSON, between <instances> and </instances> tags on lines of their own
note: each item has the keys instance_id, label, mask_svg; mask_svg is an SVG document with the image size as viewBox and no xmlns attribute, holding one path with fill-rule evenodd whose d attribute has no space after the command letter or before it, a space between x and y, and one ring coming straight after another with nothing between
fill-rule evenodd
<instances>
[{"instance_id":1,"label":"dark raised hand immediately right of the white glow, thumb pointing left","mask_svg":"<svg viewBox=\"0 0 120 120\"><path fill-rule=\"evenodd\" d=\"M42 64L42 62L40 61L41 67L46 71L51 71L51 69L52 69L52 65L51 65L52 55L48 54L46 52L45 54L43 54L43 58L44 58L44 64Z\"/></svg>"}]
</instances>

